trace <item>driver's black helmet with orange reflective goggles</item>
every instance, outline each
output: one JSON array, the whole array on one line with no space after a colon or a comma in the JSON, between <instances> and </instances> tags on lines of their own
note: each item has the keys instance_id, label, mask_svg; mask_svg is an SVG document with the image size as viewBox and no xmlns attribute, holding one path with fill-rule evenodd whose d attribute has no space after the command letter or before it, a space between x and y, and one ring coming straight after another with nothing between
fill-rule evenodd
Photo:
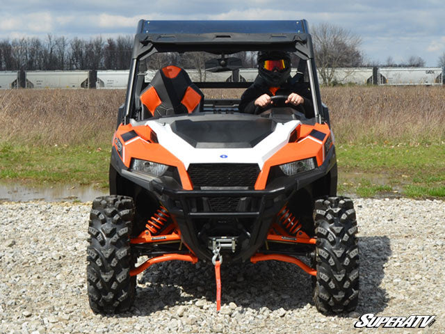
<instances>
[{"instance_id":1,"label":"driver's black helmet with orange reflective goggles","mask_svg":"<svg viewBox=\"0 0 445 334\"><path fill-rule=\"evenodd\" d=\"M285 51L259 51L258 70L266 84L281 86L291 74L291 56Z\"/></svg>"}]
</instances>

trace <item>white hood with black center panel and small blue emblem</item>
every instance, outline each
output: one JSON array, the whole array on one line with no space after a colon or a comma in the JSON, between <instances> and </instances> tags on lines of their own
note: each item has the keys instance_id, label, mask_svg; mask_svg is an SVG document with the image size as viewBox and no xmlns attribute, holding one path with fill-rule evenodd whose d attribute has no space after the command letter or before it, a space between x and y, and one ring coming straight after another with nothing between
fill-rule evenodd
<instances>
[{"instance_id":1,"label":"white hood with black center panel and small blue emblem","mask_svg":"<svg viewBox=\"0 0 445 334\"><path fill-rule=\"evenodd\" d=\"M258 164L289 142L299 120L280 123L250 114L207 114L149 120L159 145L190 164Z\"/></svg>"}]
</instances>

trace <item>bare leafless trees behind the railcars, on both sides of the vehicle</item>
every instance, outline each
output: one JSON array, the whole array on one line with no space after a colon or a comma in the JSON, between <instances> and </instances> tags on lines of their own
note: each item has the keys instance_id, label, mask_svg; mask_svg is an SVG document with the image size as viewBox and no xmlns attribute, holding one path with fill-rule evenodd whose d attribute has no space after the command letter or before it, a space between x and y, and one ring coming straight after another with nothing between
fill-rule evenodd
<instances>
[{"instance_id":1,"label":"bare leafless trees behind the railcars, on both sides of the vehicle","mask_svg":"<svg viewBox=\"0 0 445 334\"><path fill-rule=\"evenodd\" d=\"M362 49L362 38L341 26L318 24L312 29L316 65L324 84L330 84L338 67L423 67L425 61L411 56L407 61L396 63L387 58L386 63L366 61ZM117 38L102 37L82 39L55 37L15 38L0 41L0 70L128 70L133 47L133 36ZM256 67L256 53L239 52L243 67ZM155 54L149 59L147 68L159 69L163 65L175 64L186 69L204 70L204 63L211 55L204 52L187 54ZM298 65L298 59L292 59ZM445 66L445 53L439 58L439 66Z\"/></svg>"}]
</instances>

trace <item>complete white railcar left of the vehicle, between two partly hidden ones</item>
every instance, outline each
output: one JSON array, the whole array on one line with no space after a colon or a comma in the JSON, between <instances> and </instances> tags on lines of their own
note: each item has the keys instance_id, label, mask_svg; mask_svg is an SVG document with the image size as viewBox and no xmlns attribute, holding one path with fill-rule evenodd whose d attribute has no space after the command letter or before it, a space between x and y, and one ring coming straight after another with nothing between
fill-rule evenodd
<instances>
[{"instance_id":1,"label":"complete white railcar left of the vehicle, between two partly hidden ones","mask_svg":"<svg viewBox=\"0 0 445 334\"><path fill-rule=\"evenodd\" d=\"M90 71L26 71L26 88L88 88Z\"/></svg>"}]
</instances>

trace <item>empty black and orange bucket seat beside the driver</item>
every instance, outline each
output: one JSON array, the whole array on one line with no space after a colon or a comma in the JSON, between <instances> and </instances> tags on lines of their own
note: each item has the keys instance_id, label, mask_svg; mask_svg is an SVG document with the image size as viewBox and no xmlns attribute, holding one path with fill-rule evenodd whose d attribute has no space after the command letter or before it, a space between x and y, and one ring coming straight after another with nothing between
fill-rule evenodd
<instances>
[{"instance_id":1,"label":"empty black and orange bucket seat beside the driver","mask_svg":"<svg viewBox=\"0 0 445 334\"><path fill-rule=\"evenodd\" d=\"M140 93L140 102L146 117L170 116L202 111L204 94L185 70L170 65L156 72L149 86Z\"/></svg>"}]
</instances>

